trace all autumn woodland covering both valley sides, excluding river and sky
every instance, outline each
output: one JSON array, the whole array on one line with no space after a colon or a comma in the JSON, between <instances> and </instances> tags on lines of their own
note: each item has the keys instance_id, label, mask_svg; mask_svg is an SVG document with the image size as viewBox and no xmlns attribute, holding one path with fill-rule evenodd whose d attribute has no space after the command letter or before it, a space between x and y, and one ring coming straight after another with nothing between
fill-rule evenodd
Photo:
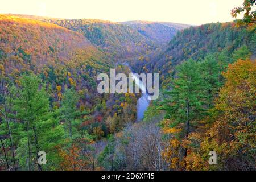
<instances>
[{"instance_id":1,"label":"all autumn woodland covering both valley sides, excluding river and sky","mask_svg":"<svg viewBox=\"0 0 256 182\"><path fill-rule=\"evenodd\" d=\"M253 6L191 27L0 15L0 170L255 170ZM97 92L122 63L159 73L143 121L140 94Z\"/></svg>"}]
</instances>

